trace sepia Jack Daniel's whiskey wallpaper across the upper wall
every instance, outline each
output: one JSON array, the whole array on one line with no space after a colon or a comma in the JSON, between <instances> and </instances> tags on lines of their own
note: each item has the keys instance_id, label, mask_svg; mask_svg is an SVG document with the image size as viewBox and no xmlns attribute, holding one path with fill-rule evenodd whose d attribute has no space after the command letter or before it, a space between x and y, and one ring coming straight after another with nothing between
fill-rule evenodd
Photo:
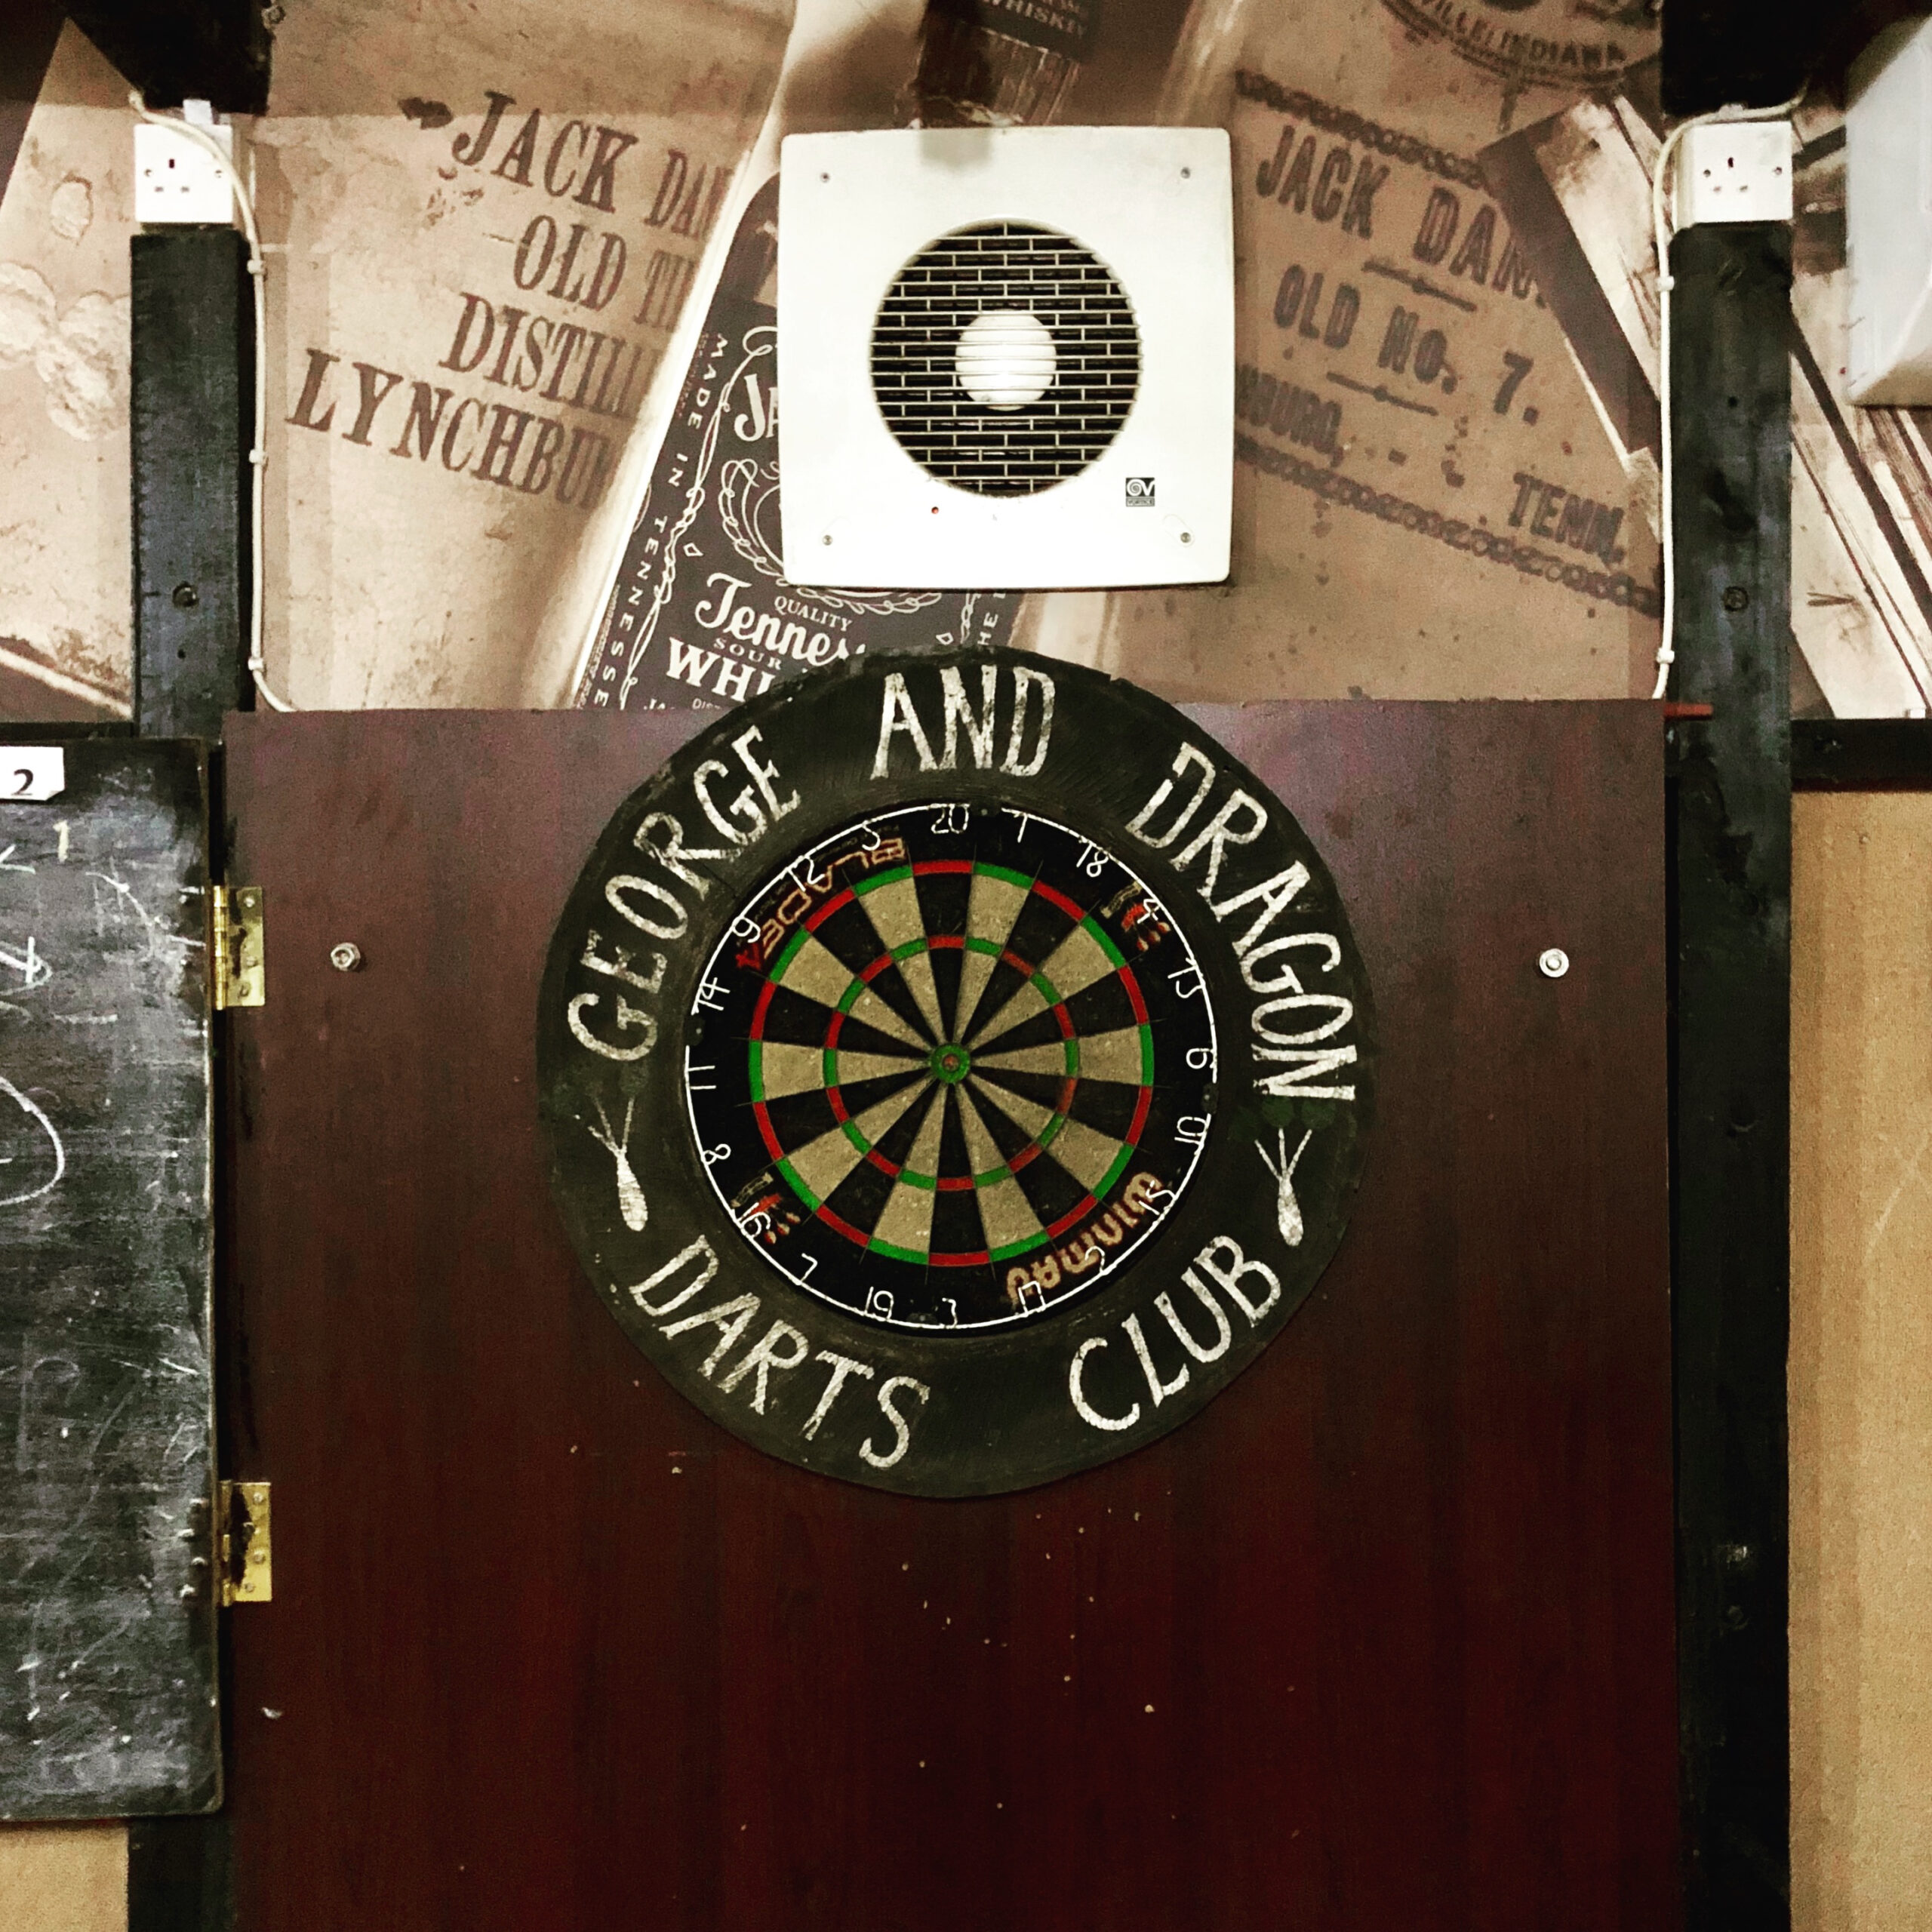
<instances>
[{"instance_id":1,"label":"sepia Jack Daniel's whiskey wallpaper across the upper wall","mask_svg":"<svg viewBox=\"0 0 1932 1932\"><path fill-rule=\"evenodd\" d=\"M804 595L775 562L788 131L1227 128L1235 568ZM70 23L0 201L0 659L129 694L126 83ZM1658 643L1648 0L303 0L238 126L267 255L269 663L309 707L728 705L885 643L1177 697L1609 697ZM1837 388L1799 116L1795 705L1922 713L1920 412Z\"/></svg>"}]
</instances>

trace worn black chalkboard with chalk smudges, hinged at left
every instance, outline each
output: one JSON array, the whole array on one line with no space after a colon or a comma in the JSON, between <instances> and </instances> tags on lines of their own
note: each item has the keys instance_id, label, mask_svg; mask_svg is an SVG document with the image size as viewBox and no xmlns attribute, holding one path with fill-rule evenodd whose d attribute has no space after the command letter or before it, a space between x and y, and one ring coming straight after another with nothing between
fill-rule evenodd
<instances>
[{"instance_id":1,"label":"worn black chalkboard with chalk smudges, hinged at left","mask_svg":"<svg viewBox=\"0 0 1932 1932\"><path fill-rule=\"evenodd\" d=\"M205 1810L207 753L64 759L0 802L0 1816Z\"/></svg>"}]
</instances>

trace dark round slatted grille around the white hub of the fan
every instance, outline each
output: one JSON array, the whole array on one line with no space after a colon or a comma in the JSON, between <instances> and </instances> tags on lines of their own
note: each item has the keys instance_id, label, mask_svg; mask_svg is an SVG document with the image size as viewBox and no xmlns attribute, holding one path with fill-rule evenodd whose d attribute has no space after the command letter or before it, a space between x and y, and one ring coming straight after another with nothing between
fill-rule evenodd
<instances>
[{"instance_id":1,"label":"dark round slatted grille around the white hub of the fan","mask_svg":"<svg viewBox=\"0 0 1932 1932\"><path fill-rule=\"evenodd\" d=\"M960 383L960 336L981 315L1032 315L1053 342L1036 402L989 406ZM1092 249L1028 222L929 242L893 278L871 330L871 388L900 448L981 497L1032 497L1094 464L1140 388L1134 309Z\"/></svg>"}]
</instances>

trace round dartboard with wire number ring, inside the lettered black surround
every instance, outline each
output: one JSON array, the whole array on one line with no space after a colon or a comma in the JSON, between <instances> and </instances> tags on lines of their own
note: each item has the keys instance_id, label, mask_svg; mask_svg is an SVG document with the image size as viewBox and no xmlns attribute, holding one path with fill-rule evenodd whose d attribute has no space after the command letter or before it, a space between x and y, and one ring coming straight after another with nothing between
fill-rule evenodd
<instances>
[{"instance_id":1,"label":"round dartboard with wire number ring, inside the lettered black surround","mask_svg":"<svg viewBox=\"0 0 1932 1932\"><path fill-rule=\"evenodd\" d=\"M692 1132L744 1238L904 1327L1090 1293L1179 1200L1213 1113L1213 1016L1159 900L991 806L881 813L790 862L707 962L690 1037Z\"/></svg>"}]
</instances>

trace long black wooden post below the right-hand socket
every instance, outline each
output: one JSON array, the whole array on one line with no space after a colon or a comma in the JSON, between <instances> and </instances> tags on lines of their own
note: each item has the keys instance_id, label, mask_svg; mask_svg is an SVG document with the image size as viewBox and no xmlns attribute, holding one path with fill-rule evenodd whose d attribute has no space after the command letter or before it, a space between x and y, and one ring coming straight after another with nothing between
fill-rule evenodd
<instances>
[{"instance_id":1,"label":"long black wooden post below the right-hand socket","mask_svg":"<svg viewBox=\"0 0 1932 1932\"><path fill-rule=\"evenodd\" d=\"M1791 238L1675 272L1673 1308L1687 1926L1791 1922Z\"/></svg>"}]
</instances>

